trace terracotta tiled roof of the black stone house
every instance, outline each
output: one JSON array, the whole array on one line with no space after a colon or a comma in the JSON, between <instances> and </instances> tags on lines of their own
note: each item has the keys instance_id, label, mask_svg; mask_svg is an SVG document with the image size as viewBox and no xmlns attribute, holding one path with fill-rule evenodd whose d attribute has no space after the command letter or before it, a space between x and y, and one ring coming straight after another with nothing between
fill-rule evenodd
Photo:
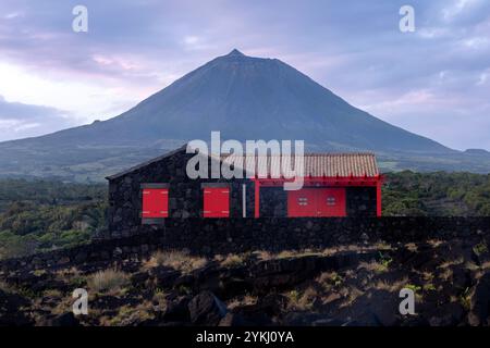
<instances>
[{"instance_id":1,"label":"terracotta tiled roof of the black stone house","mask_svg":"<svg viewBox=\"0 0 490 348\"><path fill-rule=\"evenodd\" d=\"M241 164L242 167L246 167L243 156L225 154L222 156L222 161L228 163ZM283 158L284 159L284 158ZM291 161L286 167L295 169L294 156L289 158ZM271 176L273 173L282 173L281 171L281 156L258 156L256 157L256 173L267 173L267 176ZM287 162L285 163L287 164ZM375 177L379 175L378 164L376 162L376 156L373 153L305 153L304 154L304 176L313 177L333 177L333 176L367 176ZM283 176L294 176L291 170L283 173ZM277 176L275 176L277 177Z\"/></svg>"}]
</instances>

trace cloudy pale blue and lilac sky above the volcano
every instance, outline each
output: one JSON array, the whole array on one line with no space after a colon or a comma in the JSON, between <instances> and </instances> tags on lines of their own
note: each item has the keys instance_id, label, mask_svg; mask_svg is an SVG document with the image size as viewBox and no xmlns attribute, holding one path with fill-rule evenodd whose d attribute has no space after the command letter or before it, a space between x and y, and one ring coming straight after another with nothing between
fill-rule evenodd
<instances>
[{"instance_id":1,"label":"cloudy pale blue and lilac sky above the volcano","mask_svg":"<svg viewBox=\"0 0 490 348\"><path fill-rule=\"evenodd\" d=\"M72 29L79 4L87 33ZM403 5L415 32L400 30ZM488 0L2 0L0 141L117 116L234 48L407 130L490 150Z\"/></svg>"}]
</instances>

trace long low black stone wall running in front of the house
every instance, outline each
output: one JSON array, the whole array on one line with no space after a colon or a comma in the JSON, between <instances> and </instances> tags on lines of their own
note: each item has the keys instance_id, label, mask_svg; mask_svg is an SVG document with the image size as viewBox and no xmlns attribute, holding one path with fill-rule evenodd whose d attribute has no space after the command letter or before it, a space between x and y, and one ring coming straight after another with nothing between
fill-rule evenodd
<instances>
[{"instance_id":1,"label":"long low black stone wall running in front of the house","mask_svg":"<svg viewBox=\"0 0 490 348\"><path fill-rule=\"evenodd\" d=\"M490 245L490 216L168 219L162 225L140 226L131 237L100 239L71 249L2 260L0 270L64 268L145 258L157 249L186 249L194 254L212 256L454 238Z\"/></svg>"}]
</instances>

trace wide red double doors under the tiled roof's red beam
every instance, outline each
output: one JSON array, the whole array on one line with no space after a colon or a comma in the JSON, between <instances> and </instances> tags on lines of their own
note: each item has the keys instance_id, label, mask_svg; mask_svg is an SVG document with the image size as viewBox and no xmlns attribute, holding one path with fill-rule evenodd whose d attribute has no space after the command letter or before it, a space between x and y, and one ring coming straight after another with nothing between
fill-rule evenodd
<instances>
[{"instance_id":1,"label":"wide red double doors under the tiled roof's red beam","mask_svg":"<svg viewBox=\"0 0 490 348\"><path fill-rule=\"evenodd\" d=\"M345 188L303 188L289 191L287 216L346 216Z\"/></svg>"}]
</instances>

